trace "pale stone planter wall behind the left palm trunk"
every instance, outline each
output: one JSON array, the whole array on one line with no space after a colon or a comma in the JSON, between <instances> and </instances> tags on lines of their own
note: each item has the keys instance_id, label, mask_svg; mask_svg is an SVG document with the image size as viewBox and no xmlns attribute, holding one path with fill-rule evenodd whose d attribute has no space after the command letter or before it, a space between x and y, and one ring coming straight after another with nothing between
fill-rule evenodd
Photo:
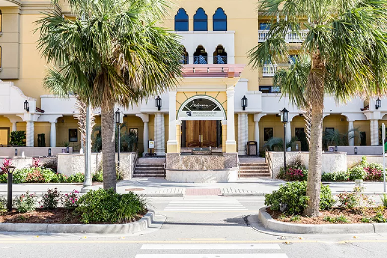
<instances>
[{"instance_id":1,"label":"pale stone planter wall behind the left palm trunk","mask_svg":"<svg viewBox=\"0 0 387 258\"><path fill-rule=\"evenodd\" d=\"M131 179L134 170L134 160L137 153L125 152L120 153L120 168L124 179ZM102 161L102 153L91 154L91 172L100 169ZM117 153L116 153L117 162ZM58 154L58 173L66 176L73 175L78 172L85 172L85 156L84 154Z\"/></svg>"}]
</instances>

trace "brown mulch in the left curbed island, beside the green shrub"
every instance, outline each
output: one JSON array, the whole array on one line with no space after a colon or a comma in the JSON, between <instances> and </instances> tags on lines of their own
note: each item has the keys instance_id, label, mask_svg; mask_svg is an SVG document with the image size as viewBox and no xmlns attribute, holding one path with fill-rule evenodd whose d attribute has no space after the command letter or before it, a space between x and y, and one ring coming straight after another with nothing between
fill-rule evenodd
<instances>
[{"instance_id":1,"label":"brown mulch in the left curbed island, beside the green shrub","mask_svg":"<svg viewBox=\"0 0 387 258\"><path fill-rule=\"evenodd\" d=\"M139 216L138 219L142 218ZM19 213L16 210L0 215L0 223L43 223L43 224L83 224L80 215L64 208ZM109 222L90 222L90 224L118 224Z\"/></svg>"}]
</instances>

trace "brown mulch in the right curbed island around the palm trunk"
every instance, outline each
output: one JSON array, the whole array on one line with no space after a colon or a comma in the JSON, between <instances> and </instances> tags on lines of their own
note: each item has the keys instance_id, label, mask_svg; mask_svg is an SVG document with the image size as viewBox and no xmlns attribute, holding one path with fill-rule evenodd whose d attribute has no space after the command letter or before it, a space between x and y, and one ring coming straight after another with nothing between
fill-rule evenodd
<instances>
[{"instance_id":1,"label":"brown mulch in the right curbed island around the palm trunk","mask_svg":"<svg viewBox=\"0 0 387 258\"><path fill-rule=\"evenodd\" d=\"M377 211L375 211L375 208L365 208L363 210L363 213L360 213L359 211L355 209L340 209L340 208L333 208L332 210L323 210L321 211L321 215L315 218L310 217L304 217L300 216L300 220L298 221L291 221L292 216L288 215L287 217L281 217L281 212L279 211L272 211L270 208L266 209L266 212L271 215L271 217L275 220L282 221L282 222L289 222L294 224L348 224L344 222L337 222L337 223L331 223L329 221L325 221L324 218L329 217L338 217L338 216L345 216L349 223L364 223L361 221L362 218L372 218L377 214ZM387 209L382 212L384 215L384 218L387 219ZM293 216L294 217L294 216ZM376 222L370 222L370 223L376 223Z\"/></svg>"}]
</instances>

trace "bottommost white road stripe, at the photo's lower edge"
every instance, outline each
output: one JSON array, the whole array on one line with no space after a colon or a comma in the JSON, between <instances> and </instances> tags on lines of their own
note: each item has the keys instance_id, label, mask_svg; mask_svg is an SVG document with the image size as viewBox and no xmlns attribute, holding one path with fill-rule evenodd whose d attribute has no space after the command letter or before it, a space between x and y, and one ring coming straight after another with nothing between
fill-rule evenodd
<instances>
[{"instance_id":1,"label":"bottommost white road stripe, at the photo's lower edge","mask_svg":"<svg viewBox=\"0 0 387 258\"><path fill-rule=\"evenodd\" d=\"M178 254L136 255L135 258L289 258L286 254Z\"/></svg>"}]
</instances>

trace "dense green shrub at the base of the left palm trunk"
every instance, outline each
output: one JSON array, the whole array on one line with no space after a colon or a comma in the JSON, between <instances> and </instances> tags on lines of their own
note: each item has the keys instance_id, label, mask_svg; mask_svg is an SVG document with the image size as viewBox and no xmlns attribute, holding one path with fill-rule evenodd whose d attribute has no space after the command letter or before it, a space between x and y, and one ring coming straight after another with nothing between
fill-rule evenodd
<instances>
[{"instance_id":1,"label":"dense green shrub at the base of the left palm trunk","mask_svg":"<svg viewBox=\"0 0 387 258\"><path fill-rule=\"evenodd\" d=\"M138 215L146 212L146 203L142 197L129 192L118 194L113 189L90 190L78 201L76 212L83 223L110 222L122 223L134 221Z\"/></svg>"}]
</instances>

